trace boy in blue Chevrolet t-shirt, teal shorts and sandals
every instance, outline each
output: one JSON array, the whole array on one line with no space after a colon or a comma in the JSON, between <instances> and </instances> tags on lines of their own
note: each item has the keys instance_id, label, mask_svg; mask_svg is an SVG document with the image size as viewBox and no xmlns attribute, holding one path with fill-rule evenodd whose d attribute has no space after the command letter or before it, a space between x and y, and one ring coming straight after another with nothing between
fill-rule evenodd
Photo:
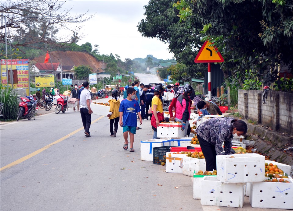
<instances>
[{"instance_id":1,"label":"boy in blue Chevrolet t-shirt, teal shorts and sandals","mask_svg":"<svg viewBox=\"0 0 293 211\"><path fill-rule=\"evenodd\" d=\"M140 107L138 102L135 100L136 92L135 89L129 87L127 89L127 98L122 100L119 107L120 112L120 127L123 127L124 144L123 149L128 149L128 132L130 139L130 152L134 152L133 142L134 134L136 133L137 121L136 114L139 117L139 123L142 124L143 120L140 115ZM123 119L123 121L122 121Z\"/></svg>"}]
</instances>

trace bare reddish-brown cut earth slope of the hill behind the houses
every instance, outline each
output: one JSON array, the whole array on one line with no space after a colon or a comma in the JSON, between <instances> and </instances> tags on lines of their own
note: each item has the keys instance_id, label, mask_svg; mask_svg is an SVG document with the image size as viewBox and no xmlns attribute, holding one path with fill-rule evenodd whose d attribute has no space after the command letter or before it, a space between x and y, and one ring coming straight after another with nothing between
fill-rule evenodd
<instances>
[{"instance_id":1,"label":"bare reddish-brown cut earth slope of the hill behind the houses","mask_svg":"<svg viewBox=\"0 0 293 211\"><path fill-rule=\"evenodd\" d=\"M86 52L78 51L52 51L50 52L50 58L52 62L60 62L62 65L89 65L92 68L92 72L99 73L103 72L103 62L98 61L92 55ZM45 55L36 57L31 60L32 63L43 63L45 60ZM50 60L49 60L50 61ZM106 68L106 63L104 63L104 68Z\"/></svg>"}]
</instances>

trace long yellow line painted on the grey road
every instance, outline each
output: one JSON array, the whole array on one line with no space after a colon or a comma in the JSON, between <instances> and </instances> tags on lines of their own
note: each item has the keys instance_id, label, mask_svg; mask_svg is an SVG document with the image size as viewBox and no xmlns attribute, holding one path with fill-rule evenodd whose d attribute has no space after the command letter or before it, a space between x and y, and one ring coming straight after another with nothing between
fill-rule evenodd
<instances>
[{"instance_id":1,"label":"long yellow line painted on the grey road","mask_svg":"<svg viewBox=\"0 0 293 211\"><path fill-rule=\"evenodd\" d=\"M96 120L92 121L92 123L94 123L94 122L100 120L101 118L103 118L103 116L101 116L101 117L97 118ZM71 135L74 135L75 133L81 131L82 129L84 129L84 128L81 127L81 128L79 128L79 129L77 129L77 130L75 130L75 131L69 133L68 135L65 135L65 136L62 137L61 139L58 139L57 141L54 141L54 142L48 144L47 146L44 146L44 147L42 147L41 149L38 149L37 151L34 151L33 153L31 153L31 154L29 154L29 155L27 155L27 156L24 156L24 157L22 157L22 158L20 158L20 159L18 159L18 160L16 160L16 161L14 161L14 162L12 162L12 163L10 163L10 164L8 164L8 165L6 165L6 166L0 168L0 172L3 171L3 170L5 170L5 169L11 168L11 167L13 167L13 166L15 166L15 165L17 165L17 164L20 164L20 163L24 162L25 160L27 160L27 159L29 159L29 158L31 158L31 157L33 157L33 156L35 156L35 155L41 153L42 151L44 151L44 150L50 148L50 147L53 146L54 144L57 144L57 143L59 143L59 142L65 140L65 139L67 139L68 137L70 137Z\"/></svg>"}]
</instances>

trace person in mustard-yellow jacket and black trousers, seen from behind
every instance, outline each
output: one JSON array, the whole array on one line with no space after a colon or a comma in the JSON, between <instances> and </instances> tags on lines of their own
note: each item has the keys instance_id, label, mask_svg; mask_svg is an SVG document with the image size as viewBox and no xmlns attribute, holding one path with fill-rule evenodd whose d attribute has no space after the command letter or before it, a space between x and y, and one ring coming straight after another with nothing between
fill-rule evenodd
<instances>
[{"instance_id":1,"label":"person in mustard-yellow jacket and black trousers, seen from behind","mask_svg":"<svg viewBox=\"0 0 293 211\"><path fill-rule=\"evenodd\" d=\"M116 133L118 130L118 122L120 118L119 113L119 106L120 106L120 100L118 96L118 90L114 89L112 90L112 99L109 100L110 104L110 110L107 117L110 119L110 136L116 137ZM113 130L114 125L114 130Z\"/></svg>"}]
</instances>

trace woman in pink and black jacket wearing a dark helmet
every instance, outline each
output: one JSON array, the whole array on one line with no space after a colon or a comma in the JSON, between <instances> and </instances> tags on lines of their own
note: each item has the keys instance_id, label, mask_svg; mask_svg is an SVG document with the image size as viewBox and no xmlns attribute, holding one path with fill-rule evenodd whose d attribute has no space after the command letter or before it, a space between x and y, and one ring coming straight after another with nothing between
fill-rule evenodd
<instances>
[{"instance_id":1,"label":"woman in pink and black jacket wearing a dark helmet","mask_svg":"<svg viewBox=\"0 0 293 211\"><path fill-rule=\"evenodd\" d=\"M185 86L183 89L183 94L177 98L176 107L176 117L175 120L183 123L182 130L184 130L184 137L187 134L188 126L189 126L189 119L190 119L190 107L191 107L191 100L190 94L193 88L191 86Z\"/></svg>"}]
</instances>

